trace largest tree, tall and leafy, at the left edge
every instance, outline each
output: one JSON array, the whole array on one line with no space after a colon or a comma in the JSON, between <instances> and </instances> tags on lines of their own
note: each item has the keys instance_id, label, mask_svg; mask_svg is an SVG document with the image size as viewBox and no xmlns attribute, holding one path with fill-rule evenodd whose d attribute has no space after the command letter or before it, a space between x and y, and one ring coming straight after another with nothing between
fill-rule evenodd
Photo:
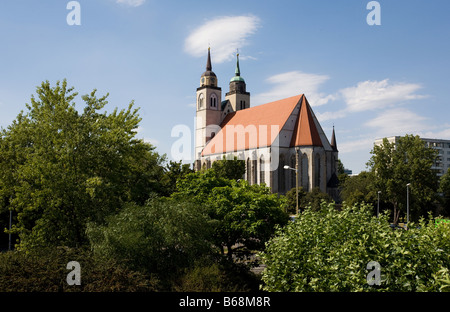
<instances>
[{"instance_id":1,"label":"largest tree, tall and leafy, at the left edge","mask_svg":"<svg viewBox=\"0 0 450 312\"><path fill-rule=\"evenodd\" d=\"M16 120L1 130L0 211L14 212L19 248L87 243L88 221L101 223L123 203L158 192L161 163L154 147L135 139L140 118L131 102L100 113L107 96L82 96L59 81L37 88Z\"/></svg>"}]
</instances>

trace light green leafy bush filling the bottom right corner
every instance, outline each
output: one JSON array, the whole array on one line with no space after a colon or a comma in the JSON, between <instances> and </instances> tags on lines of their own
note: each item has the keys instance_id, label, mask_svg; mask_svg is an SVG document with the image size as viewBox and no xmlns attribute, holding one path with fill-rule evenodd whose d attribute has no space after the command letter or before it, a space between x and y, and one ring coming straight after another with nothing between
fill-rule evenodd
<instances>
[{"instance_id":1,"label":"light green leafy bush filling the bottom right corner","mask_svg":"<svg viewBox=\"0 0 450 312\"><path fill-rule=\"evenodd\" d=\"M267 291L445 291L449 288L450 227L421 219L394 230L387 215L361 204L322 203L279 228L261 254ZM370 286L367 264L381 266Z\"/></svg>"}]
</instances>

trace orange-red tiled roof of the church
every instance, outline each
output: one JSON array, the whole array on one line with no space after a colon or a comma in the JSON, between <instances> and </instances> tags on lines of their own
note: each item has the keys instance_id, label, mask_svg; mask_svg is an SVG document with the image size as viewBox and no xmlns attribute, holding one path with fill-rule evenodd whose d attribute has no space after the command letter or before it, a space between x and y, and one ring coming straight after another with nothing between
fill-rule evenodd
<instances>
[{"instance_id":1,"label":"orange-red tiled roof of the church","mask_svg":"<svg viewBox=\"0 0 450 312\"><path fill-rule=\"evenodd\" d=\"M228 114L221 130L207 143L202 155L222 154L272 145L301 101L291 146L322 146L322 141L303 94Z\"/></svg>"}]
</instances>

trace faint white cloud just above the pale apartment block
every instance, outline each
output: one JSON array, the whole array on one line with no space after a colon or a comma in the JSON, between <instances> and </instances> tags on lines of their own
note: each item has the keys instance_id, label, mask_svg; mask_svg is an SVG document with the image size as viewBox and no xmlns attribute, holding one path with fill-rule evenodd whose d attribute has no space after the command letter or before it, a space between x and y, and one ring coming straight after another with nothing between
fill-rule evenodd
<instances>
[{"instance_id":1,"label":"faint white cloud just above the pale apartment block","mask_svg":"<svg viewBox=\"0 0 450 312\"><path fill-rule=\"evenodd\" d=\"M378 137L416 134L426 130L428 118L405 108L388 109L366 123L373 128Z\"/></svg>"}]
</instances>

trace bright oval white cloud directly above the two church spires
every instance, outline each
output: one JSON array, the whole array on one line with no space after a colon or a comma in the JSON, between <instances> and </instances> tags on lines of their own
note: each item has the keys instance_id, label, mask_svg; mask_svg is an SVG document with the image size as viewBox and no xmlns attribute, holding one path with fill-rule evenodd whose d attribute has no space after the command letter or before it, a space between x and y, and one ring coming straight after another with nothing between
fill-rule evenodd
<instances>
[{"instance_id":1,"label":"bright oval white cloud directly above the two church spires","mask_svg":"<svg viewBox=\"0 0 450 312\"><path fill-rule=\"evenodd\" d=\"M192 56L201 57L210 46L213 63L222 63L232 59L237 49L248 44L248 37L256 32L259 23L260 19L253 15L208 20L186 38L184 50Z\"/></svg>"}]
</instances>

